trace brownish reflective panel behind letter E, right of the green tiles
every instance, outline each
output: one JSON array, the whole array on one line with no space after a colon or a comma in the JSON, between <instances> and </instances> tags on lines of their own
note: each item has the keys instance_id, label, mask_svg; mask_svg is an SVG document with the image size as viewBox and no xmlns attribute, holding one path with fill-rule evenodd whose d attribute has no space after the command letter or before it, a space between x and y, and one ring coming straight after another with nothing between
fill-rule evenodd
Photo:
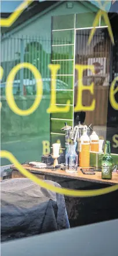
<instances>
[{"instance_id":1,"label":"brownish reflective panel behind letter E, right of the green tiles","mask_svg":"<svg viewBox=\"0 0 118 256\"><path fill-rule=\"evenodd\" d=\"M94 65L94 73L90 69L83 72L83 85L94 82L94 95L89 90L83 91L83 106L90 106L95 99L95 110L86 112L85 123L106 127L109 91L110 39L107 29L97 29L91 44L88 45L90 29L76 30L75 63ZM75 104L77 100L78 73L75 71ZM100 129L101 129L100 128Z\"/></svg>"}]
</instances>

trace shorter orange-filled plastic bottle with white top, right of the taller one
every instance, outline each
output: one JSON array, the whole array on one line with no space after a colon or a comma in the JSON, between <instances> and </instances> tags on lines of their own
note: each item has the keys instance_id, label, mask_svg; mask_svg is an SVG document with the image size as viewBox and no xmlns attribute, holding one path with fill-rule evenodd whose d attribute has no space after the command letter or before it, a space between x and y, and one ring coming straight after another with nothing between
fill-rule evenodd
<instances>
[{"instance_id":1,"label":"shorter orange-filled plastic bottle with white top, right of the taller one","mask_svg":"<svg viewBox=\"0 0 118 256\"><path fill-rule=\"evenodd\" d=\"M90 135L90 151L99 152L99 137L94 131Z\"/></svg>"}]
</instances>

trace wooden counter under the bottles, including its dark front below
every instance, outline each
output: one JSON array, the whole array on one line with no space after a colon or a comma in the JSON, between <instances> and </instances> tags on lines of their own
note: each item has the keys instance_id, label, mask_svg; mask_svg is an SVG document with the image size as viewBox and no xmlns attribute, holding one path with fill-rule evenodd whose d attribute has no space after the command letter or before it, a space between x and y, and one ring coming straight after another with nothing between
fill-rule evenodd
<instances>
[{"instance_id":1,"label":"wooden counter under the bottles, including its dark front below","mask_svg":"<svg viewBox=\"0 0 118 256\"><path fill-rule=\"evenodd\" d=\"M112 180L102 180L101 172L87 175L83 174L80 168L78 173L71 174L62 170L38 169L27 164L24 164L23 167L39 178L55 181L61 187L72 190L97 190L118 184L117 173L113 173ZM10 169L12 169L12 178L24 177L16 167L11 166ZM116 219L118 212L117 197L118 190L97 197L64 196L71 227Z\"/></svg>"}]
</instances>

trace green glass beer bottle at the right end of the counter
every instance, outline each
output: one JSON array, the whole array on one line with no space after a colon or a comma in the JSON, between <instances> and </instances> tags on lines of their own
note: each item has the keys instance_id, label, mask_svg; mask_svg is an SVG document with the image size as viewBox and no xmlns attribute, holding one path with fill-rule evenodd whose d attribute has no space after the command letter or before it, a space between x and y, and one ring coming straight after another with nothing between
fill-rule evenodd
<instances>
[{"instance_id":1,"label":"green glass beer bottle at the right end of the counter","mask_svg":"<svg viewBox=\"0 0 118 256\"><path fill-rule=\"evenodd\" d=\"M104 180L112 179L112 156L110 155L110 141L106 141L104 155L102 157L102 178Z\"/></svg>"}]
</instances>

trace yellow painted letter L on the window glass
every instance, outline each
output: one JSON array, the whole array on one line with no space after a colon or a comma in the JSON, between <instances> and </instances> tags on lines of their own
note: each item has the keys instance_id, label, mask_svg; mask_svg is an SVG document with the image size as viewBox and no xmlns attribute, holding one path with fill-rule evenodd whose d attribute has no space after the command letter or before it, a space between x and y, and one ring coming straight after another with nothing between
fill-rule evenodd
<instances>
[{"instance_id":1,"label":"yellow painted letter L on the window glass","mask_svg":"<svg viewBox=\"0 0 118 256\"><path fill-rule=\"evenodd\" d=\"M70 100L67 100L67 106L65 107L57 107L56 106L56 75L58 69L60 69L60 65L50 64L49 69L51 71L51 100L50 106L47 108L47 113L67 113L69 111Z\"/></svg>"}]
</instances>

